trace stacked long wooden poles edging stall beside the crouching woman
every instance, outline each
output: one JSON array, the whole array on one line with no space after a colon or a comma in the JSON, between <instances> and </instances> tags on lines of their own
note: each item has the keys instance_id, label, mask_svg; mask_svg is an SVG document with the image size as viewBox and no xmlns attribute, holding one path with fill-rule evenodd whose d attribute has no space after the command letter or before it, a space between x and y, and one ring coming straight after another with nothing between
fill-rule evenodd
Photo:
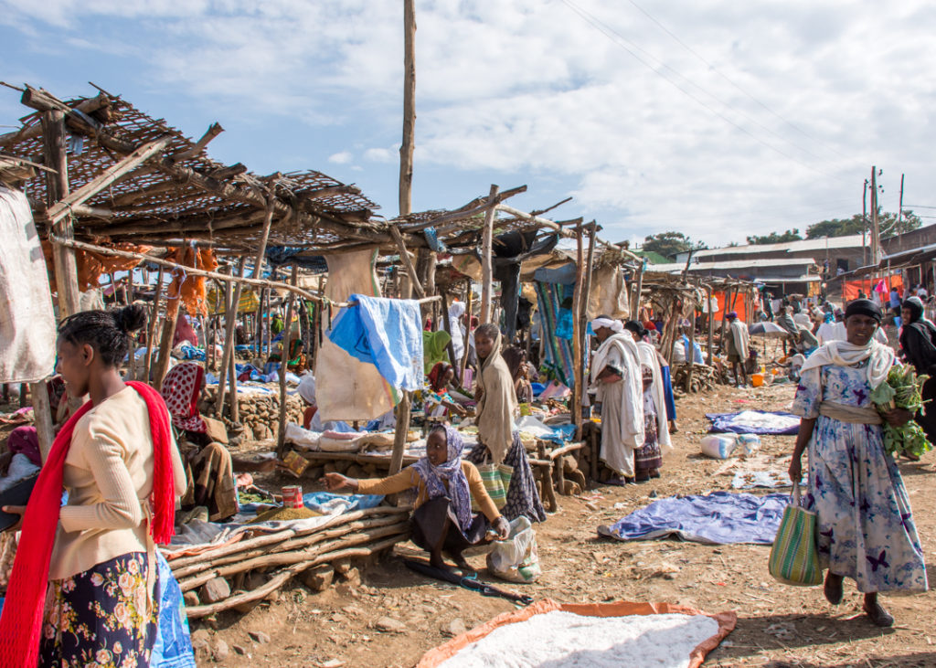
<instances>
[{"instance_id":1,"label":"stacked long wooden poles edging stall beside the crouching woman","mask_svg":"<svg viewBox=\"0 0 936 668\"><path fill-rule=\"evenodd\" d=\"M294 575L322 564L345 559L372 557L409 538L410 506L387 506L353 511L335 516L314 529L284 529L259 533L234 544L217 547L193 556L169 559L172 574L183 592L200 591L206 587L216 592L233 589L232 595L221 601L189 605L188 617L207 617L230 608L242 609L258 603L282 587ZM259 577L246 577L259 574ZM214 581L212 586L212 581ZM241 585L248 581L254 588L230 588L229 582Z\"/></svg>"}]
</instances>

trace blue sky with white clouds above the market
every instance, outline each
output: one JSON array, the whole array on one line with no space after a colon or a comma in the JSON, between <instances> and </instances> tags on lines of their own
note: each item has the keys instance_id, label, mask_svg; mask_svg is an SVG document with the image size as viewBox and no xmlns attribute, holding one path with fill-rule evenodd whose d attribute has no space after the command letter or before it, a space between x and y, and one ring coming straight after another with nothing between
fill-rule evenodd
<instances>
[{"instance_id":1,"label":"blue sky with white clouds above the market","mask_svg":"<svg viewBox=\"0 0 936 668\"><path fill-rule=\"evenodd\" d=\"M574 196L552 215L609 240L721 245L861 211L877 165L886 210L904 172L936 215L932 2L416 5L416 211L526 183L515 206ZM399 0L0 0L0 80L94 81L194 137L218 121L214 157L397 211ZM0 124L22 114L0 88Z\"/></svg>"}]
</instances>

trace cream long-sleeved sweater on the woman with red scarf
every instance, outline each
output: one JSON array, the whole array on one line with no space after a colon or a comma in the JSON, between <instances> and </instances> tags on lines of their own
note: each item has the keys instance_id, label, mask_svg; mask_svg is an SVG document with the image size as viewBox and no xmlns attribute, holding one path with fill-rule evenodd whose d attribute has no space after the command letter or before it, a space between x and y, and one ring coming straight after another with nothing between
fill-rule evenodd
<instances>
[{"instance_id":1,"label":"cream long-sleeved sweater on the woman with red scarf","mask_svg":"<svg viewBox=\"0 0 936 668\"><path fill-rule=\"evenodd\" d=\"M169 452L176 496L182 496L185 468L174 440ZM149 524L143 520L153 491L153 438L137 390L124 387L81 417L68 448L64 483L68 503L59 513L49 579L147 551Z\"/></svg>"}]
</instances>

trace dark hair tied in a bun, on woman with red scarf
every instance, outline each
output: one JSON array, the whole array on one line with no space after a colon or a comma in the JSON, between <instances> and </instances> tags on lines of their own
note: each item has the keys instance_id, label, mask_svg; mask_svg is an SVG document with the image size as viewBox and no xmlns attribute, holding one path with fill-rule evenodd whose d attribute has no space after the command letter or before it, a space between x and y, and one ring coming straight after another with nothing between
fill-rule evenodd
<instances>
[{"instance_id":1,"label":"dark hair tied in a bun, on woman with red scarf","mask_svg":"<svg viewBox=\"0 0 936 668\"><path fill-rule=\"evenodd\" d=\"M82 311L68 316L58 327L63 341L73 345L87 343L101 361L116 367L130 349L130 332L146 324L146 310L138 304L110 311Z\"/></svg>"}]
</instances>

